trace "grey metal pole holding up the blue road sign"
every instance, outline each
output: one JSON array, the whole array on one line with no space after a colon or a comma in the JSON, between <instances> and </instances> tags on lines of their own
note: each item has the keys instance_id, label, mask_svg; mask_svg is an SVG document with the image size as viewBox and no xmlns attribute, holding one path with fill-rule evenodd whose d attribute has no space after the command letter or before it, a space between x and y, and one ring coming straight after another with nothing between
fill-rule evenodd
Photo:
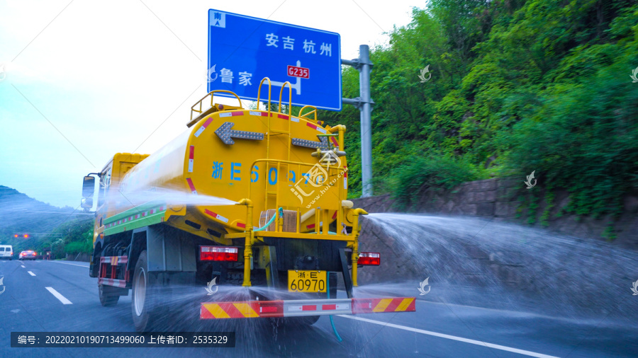
<instances>
[{"instance_id":1,"label":"grey metal pole holding up the blue road sign","mask_svg":"<svg viewBox=\"0 0 638 358\"><path fill-rule=\"evenodd\" d=\"M342 64L352 66L359 71L359 97L342 98L344 104L354 105L361 112L361 181L362 197L372 195L372 125L370 115L374 102L370 97L370 49L368 45L359 46L358 59L342 59Z\"/></svg>"}]
</instances>

